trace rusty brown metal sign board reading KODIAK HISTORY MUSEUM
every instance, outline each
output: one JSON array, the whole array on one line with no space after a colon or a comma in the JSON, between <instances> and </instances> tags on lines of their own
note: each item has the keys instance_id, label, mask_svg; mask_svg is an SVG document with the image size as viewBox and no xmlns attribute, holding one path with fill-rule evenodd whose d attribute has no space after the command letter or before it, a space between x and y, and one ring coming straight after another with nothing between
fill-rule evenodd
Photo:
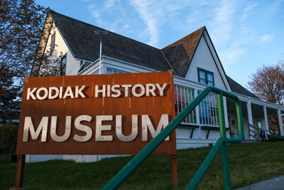
<instances>
[{"instance_id":1,"label":"rusty brown metal sign board reading KODIAK HISTORY MUSEUM","mask_svg":"<svg viewBox=\"0 0 284 190\"><path fill-rule=\"evenodd\" d=\"M175 117L173 72L25 78L16 154L137 154ZM155 154L176 154L175 132Z\"/></svg>"}]
</instances>

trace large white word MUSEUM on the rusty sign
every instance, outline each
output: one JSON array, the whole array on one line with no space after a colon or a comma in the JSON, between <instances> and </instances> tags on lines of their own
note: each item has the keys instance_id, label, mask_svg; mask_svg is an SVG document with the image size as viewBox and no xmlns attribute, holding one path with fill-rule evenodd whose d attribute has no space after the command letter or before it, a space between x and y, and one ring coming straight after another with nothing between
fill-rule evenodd
<instances>
[{"instance_id":1,"label":"large white word MUSEUM on the rusty sign","mask_svg":"<svg viewBox=\"0 0 284 190\"><path fill-rule=\"evenodd\" d=\"M138 115L131 115L132 120L132 130L131 134L124 135L122 133L123 131L123 123L122 123L122 115L116 115L115 116L115 125L116 125L116 137L122 142L131 142L134 139L136 139L138 134ZM111 122L113 120L113 115L97 115L96 116L96 125L95 125L95 138L94 141L97 142L110 142L113 141L114 137L113 135L103 135L105 131L111 131L112 126L111 125L103 125L103 122ZM72 117L66 116L65 117L65 132L62 136L58 136L56 129L58 128L58 117L52 116L50 122L50 137L55 142L65 142L67 139L70 138L71 134L71 127L72 127ZM46 142L46 138L48 135L48 120L49 117L42 117L40 120L40 124L35 130L35 127L33 125L33 121L31 117L25 117L25 122L23 126L23 142L28 142L28 134L31 134L31 139L37 140L38 137L40 137L41 133L41 142ZM80 130L82 132L85 132L86 134L84 136L75 134L73 139L77 142L87 142L90 139L92 139L92 127L89 127L87 125L82 125L81 122L91 122L92 117L89 115L80 115L76 117L74 126L76 130ZM158 126L153 126L153 123L151 122L151 119L149 115L141 115L141 126L142 126L142 141L148 141L148 130L150 131L151 136L154 138L165 128L169 123L169 117L167 114L163 114L160 117L160 121L158 123ZM170 140L170 137L167 137L165 141Z\"/></svg>"}]
</instances>

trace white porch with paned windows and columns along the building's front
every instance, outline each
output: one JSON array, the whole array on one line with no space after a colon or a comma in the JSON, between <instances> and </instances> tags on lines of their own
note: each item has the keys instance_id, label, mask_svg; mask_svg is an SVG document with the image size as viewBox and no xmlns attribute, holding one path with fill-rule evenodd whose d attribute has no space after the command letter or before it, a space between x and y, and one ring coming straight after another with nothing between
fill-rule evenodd
<instances>
[{"instance_id":1,"label":"white porch with paned windows and columns along the building's front","mask_svg":"<svg viewBox=\"0 0 284 190\"><path fill-rule=\"evenodd\" d=\"M199 83L175 78L175 113L183 110L204 88ZM284 137L283 107L253 97L236 94L241 100L245 141L265 141L269 137ZM224 97L227 137L237 136L234 101ZM202 147L219 138L217 95L210 93L178 127L177 147Z\"/></svg>"}]
</instances>

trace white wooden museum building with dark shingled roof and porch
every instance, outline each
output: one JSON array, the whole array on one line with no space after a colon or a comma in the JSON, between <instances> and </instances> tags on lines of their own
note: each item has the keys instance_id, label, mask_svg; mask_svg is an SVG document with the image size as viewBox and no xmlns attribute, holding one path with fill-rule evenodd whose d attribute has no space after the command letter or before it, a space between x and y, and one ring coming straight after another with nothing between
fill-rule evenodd
<instances>
[{"instance_id":1,"label":"white wooden museum building with dark shingled roof and porch","mask_svg":"<svg viewBox=\"0 0 284 190\"><path fill-rule=\"evenodd\" d=\"M99 74L99 35L94 31L107 31L97 26L72 19L51 11L45 25L47 40L41 39L44 51L52 51L61 58L61 75ZM244 140L258 140L259 129L270 134L268 115L278 118L278 134L284 136L281 114L284 107L266 102L226 75L207 28L181 38L179 41L158 49L108 31L102 36L102 64L104 73L139 73L174 70L175 112L178 114L208 85L214 85L234 93L241 100L244 120ZM40 62L34 63L32 73L40 73ZM241 75L241 73L240 73ZM224 112L227 136L236 135L236 113L234 102L224 97ZM214 144L219 138L217 99L208 95L176 130L177 147L202 147ZM26 162L46 159L74 159L77 162L91 162L106 156L74 155L29 155Z\"/></svg>"}]
</instances>

